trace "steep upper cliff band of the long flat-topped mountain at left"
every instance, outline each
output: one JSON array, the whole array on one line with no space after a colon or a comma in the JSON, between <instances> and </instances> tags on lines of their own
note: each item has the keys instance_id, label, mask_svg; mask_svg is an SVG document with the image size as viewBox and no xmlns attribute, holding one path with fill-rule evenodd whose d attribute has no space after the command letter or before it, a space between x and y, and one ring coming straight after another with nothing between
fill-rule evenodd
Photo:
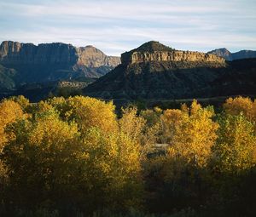
<instances>
[{"instance_id":1,"label":"steep upper cliff band of the long flat-topped mountain at left","mask_svg":"<svg viewBox=\"0 0 256 217\"><path fill-rule=\"evenodd\" d=\"M118 66L119 57L111 57L92 46L75 48L66 43L15 43L0 45L0 62L3 64L65 64L87 67Z\"/></svg>"}]
</instances>

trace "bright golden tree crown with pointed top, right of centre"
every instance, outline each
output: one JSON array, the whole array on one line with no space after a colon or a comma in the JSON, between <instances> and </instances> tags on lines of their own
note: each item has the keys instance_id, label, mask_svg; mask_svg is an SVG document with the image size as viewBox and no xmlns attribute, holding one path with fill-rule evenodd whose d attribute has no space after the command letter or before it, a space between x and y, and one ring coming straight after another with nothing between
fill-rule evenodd
<instances>
[{"instance_id":1,"label":"bright golden tree crown with pointed top, right of centre","mask_svg":"<svg viewBox=\"0 0 256 217\"><path fill-rule=\"evenodd\" d=\"M166 111L163 120L170 125L170 152L176 157L185 158L187 163L204 167L211 157L211 148L217 139L218 123L212 121L213 111L201 108L194 101L190 107L190 115L178 110Z\"/></svg>"}]
</instances>

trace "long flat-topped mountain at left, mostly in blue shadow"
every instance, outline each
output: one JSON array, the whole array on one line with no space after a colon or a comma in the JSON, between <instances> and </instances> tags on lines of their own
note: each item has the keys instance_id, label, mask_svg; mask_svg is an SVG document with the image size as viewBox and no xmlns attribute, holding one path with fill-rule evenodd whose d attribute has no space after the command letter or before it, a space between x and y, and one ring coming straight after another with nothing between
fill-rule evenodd
<instances>
[{"instance_id":1,"label":"long flat-topped mountain at left, mostly in blue shadow","mask_svg":"<svg viewBox=\"0 0 256 217\"><path fill-rule=\"evenodd\" d=\"M119 57L107 56L92 46L76 48L66 43L41 43L37 46L11 41L0 45L0 65L15 71L15 75L9 75L0 68L0 79L5 77L9 83L15 83L12 88L22 83L101 77L119 62ZM3 84L0 83L1 88Z\"/></svg>"}]
</instances>

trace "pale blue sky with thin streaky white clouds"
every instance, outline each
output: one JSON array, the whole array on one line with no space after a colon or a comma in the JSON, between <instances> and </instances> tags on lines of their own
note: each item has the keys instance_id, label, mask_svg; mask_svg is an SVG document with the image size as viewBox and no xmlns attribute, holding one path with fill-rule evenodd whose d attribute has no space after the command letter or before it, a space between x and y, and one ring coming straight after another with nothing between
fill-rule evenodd
<instances>
[{"instance_id":1,"label":"pale blue sky with thin streaky white clouds","mask_svg":"<svg viewBox=\"0 0 256 217\"><path fill-rule=\"evenodd\" d=\"M154 40L174 49L256 50L255 0L0 0L0 42L93 45L120 55Z\"/></svg>"}]
</instances>

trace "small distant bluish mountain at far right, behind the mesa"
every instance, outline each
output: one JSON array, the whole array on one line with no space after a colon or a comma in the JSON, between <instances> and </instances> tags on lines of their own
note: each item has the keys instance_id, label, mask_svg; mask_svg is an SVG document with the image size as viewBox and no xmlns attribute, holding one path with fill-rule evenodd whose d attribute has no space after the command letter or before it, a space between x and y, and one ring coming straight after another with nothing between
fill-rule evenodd
<instances>
[{"instance_id":1,"label":"small distant bluish mountain at far right, behind the mesa","mask_svg":"<svg viewBox=\"0 0 256 217\"><path fill-rule=\"evenodd\" d=\"M218 55L228 61L256 58L256 51L253 50L241 50L236 53L230 53L228 49L214 49L208 52L208 54Z\"/></svg>"}]
</instances>

